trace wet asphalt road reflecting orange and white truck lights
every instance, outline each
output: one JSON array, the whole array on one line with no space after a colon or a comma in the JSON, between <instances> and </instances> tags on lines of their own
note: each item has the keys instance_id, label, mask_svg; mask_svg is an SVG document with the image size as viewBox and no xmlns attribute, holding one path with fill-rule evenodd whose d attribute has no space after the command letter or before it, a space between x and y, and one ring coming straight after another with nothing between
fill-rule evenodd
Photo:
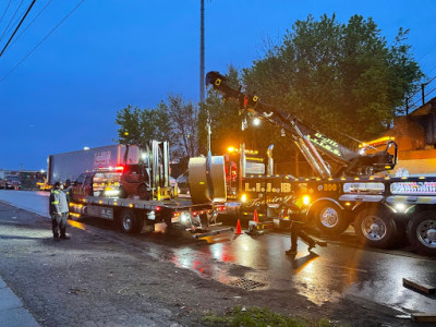
<instances>
[{"instance_id":1,"label":"wet asphalt road reflecting orange and white truck lights","mask_svg":"<svg viewBox=\"0 0 436 327\"><path fill-rule=\"evenodd\" d=\"M48 193L44 192L0 191L0 199L46 217L47 196ZM196 241L184 231L171 231L165 235L122 234L107 221L94 218L81 218L70 223L146 247L156 258L226 284L246 289L295 288L316 305L355 296L404 314L436 311L435 295L425 295L402 286L402 278L436 286L436 258L402 249L359 249L350 234L311 253L300 242L300 252L293 258L284 255L290 245L286 233L267 232L252 237L228 232Z\"/></svg>"}]
</instances>

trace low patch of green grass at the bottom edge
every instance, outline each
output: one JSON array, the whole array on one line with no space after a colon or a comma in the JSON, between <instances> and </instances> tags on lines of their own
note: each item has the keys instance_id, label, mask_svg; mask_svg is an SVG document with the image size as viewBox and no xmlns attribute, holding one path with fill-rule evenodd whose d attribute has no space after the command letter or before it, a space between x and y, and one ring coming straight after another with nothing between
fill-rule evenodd
<instances>
[{"instance_id":1,"label":"low patch of green grass at the bottom edge","mask_svg":"<svg viewBox=\"0 0 436 327\"><path fill-rule=\"evenodd\" d=\"M327 327L334 326L327 319L305 319L301 317L283 316L261 307L234 306L226 315L218 316L214 313L207 313L202 323L206 326L230 326L230 327Z\"/></svg>"}]
</instances>

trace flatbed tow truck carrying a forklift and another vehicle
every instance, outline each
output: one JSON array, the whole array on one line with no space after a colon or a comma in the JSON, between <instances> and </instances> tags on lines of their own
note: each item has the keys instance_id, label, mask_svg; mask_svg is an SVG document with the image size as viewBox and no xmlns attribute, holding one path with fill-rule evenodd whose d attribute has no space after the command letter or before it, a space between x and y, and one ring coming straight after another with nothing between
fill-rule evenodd
<instances>
[{"instance_id":1,"label":"flatbed tow truck carrying a forklift and another vehicle","mask_svg":"<svg viewBox=\"0 0 436 327\"><path fill-rule=\"evenodd\" d=\"M149 179L148 199L132 195L120 197L117 192L122 186L119 178L111 180L111 175L117 175L117 167L113 173L109 173L110 170L97 170L84 173L83 181L73 182L68 190L70 216L78 218L84 215L111 220L126 233L184 229L198 239L231 230L210 230L219 226L217 215L225 208L220 203L177 197L177 186L171 185L169 180L168 142L153 141L141 157L141 165ZM205 183L202 177L198 182Z\"/></svg>"}]
</instances>

